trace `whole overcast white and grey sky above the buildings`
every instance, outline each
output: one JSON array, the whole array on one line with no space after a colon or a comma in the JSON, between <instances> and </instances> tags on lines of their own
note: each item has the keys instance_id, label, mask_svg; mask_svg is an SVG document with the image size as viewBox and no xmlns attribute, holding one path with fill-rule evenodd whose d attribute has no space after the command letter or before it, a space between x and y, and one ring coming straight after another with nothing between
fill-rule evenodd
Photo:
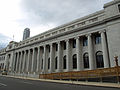
<instances>
[{"instance_id":1,"label":"whole overcast white and grey sky above the buildings","mask_svg":"<svg viewBox=\"0 0 120 90\"><path fill-rule=\"evenodd\" d=\"M0 0L0 43L21 41L25 28L35 36L102 10L112 0Z\"/></svg>"}]
</instances>

